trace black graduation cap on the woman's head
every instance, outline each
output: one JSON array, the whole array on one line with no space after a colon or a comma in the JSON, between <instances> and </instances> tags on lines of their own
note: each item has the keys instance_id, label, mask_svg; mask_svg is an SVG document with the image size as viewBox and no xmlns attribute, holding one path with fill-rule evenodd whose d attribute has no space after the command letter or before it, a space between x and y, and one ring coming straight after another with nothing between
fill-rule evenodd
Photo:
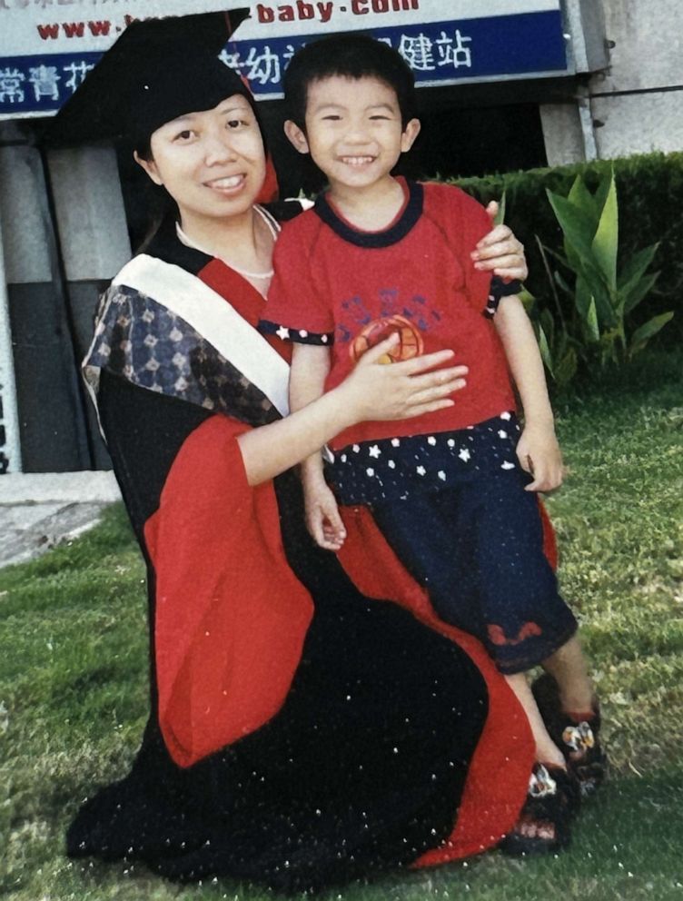
<instances>
[{"instance_id":1,"label":"black graduation cap on the woman's head","mask_svg":"<svg viewBox=\"0 0 683 901\"><path fill-rule=\"evenodd\" d=\"M179 115L252 96L218 58L229 37L225 13L169 16L128 25L54 117L51 145L127 137L135 147Z\"/></svg>"}]
</instances>

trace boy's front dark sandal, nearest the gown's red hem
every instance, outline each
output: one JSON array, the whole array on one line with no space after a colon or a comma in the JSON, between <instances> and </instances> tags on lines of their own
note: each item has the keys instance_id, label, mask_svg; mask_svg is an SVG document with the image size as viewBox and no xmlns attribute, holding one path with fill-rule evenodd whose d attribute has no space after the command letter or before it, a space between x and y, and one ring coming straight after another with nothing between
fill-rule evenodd
<instances>
[{"instance_id":1,"label":"boy's front dark sandal, nearest the gown's red hem","mask_svg":"<svg viewBox=\"0 0 683 901\"><path fill-rule=\"evenodd\" d=\"M566 769L534 764L520 817L498 847L516 856L550 854L567 847L579 803L579 786Z\"/></svg>"}]
</instances>

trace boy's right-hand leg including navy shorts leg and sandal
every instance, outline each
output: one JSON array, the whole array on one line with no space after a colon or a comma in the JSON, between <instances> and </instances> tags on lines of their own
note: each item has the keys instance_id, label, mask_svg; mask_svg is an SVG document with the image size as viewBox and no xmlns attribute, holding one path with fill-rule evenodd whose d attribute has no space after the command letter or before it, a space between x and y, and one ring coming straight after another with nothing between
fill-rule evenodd
<instances>
[{"instance_id":1,"label":"boy's right-hand leg including navy shorts leg and sandal","mask_svg":"<svg viewBox=\"0 0 683 901\"><path fill-rule=\"evenodd\" d=\"M481 608L495 624L490 630L492 656L503 672L527 671L537 664L548 670L532 687L537 710L588 795L604 778L606 767L599 746L598 706L576 637L576 620L559 596L542 551L538 502L523 490L523 481L514 485L516 473L508 475L510 480L492 479L483 487L486 503L477 517L478 569L486 574Z\"/></svg>"}]
</instances>

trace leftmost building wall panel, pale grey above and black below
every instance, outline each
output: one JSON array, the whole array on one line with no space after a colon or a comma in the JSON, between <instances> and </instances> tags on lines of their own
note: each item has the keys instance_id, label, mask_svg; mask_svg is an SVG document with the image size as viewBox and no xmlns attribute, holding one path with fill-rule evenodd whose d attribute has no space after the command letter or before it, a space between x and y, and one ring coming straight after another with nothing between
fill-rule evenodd
<instances>
[{"instance_id":1,"label":"leftmost building wall panel, pale grey above and black below","mask_svg":"<svg viewBox=\"0 0 683 901\"><path fill-rule=\"evenodd\" d=\"M0 237L21 462L24 470L56 472L87 460L45 166L30 137L30 129L11 123L0 129Z\"/></svg>"}]
</instances>

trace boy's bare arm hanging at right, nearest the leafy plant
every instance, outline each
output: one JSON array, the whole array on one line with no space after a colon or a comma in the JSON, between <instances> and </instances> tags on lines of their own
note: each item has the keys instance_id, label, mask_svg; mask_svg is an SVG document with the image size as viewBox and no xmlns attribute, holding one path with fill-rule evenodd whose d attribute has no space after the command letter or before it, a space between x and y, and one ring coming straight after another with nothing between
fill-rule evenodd
<instances>
[{"instance_id":1,"label":"boy's bare arm hanging at right, nearest the leafy plant","mask_svg":"<svg viewBox=\"0 0 683 901\"><path fill-rule=\"evenodd\" d=\"M500 300L493 322L524 410L524 431L517 445L517 456L522 469L533 476L526 490L550 491L562 483L562 455L536 335L515 294Z\"/></svg>"}]
</instances>

